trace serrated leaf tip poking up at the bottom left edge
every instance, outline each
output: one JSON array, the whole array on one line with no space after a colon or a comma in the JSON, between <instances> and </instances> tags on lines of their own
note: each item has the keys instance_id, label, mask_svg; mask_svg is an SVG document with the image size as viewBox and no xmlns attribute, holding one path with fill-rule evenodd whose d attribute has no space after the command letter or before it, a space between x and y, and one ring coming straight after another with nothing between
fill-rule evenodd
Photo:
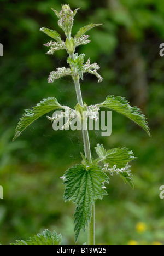
<instances>
[{"instance_id":1,"label":"serrated leaf tip poking up at the bottom left edge","mask_svg":"<svg viewBox=\"0 0 164 256\"><path fill-rule=\"evenodd\" d=\"M57 235L55 231L52 233L45 229L42 234L30 237L30 240L16 240L16 243L11 243L10 245L60 245L61 240L61 234Z\"/></svg>"}]
</instances>

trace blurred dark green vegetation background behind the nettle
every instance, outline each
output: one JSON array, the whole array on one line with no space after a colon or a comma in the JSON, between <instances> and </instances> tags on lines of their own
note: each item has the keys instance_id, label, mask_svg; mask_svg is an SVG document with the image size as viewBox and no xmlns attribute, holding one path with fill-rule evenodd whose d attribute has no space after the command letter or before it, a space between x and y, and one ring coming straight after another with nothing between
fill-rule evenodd
<instances>
[{"instance_id":1,"label":"blurred dark green vegetation background behind the nettle","mask_svg":"<svg viewBox=\"0 0 164 256\"><path fill-rule=\"evenodd\" d=\"M40 118L14 143L12 138L24 109L54 96L61 104L75 106L71 78L48 84L52 70L66 65L65 51L46 55L50 38L40 27L55 29L57 18L51 7L61 4L81 7L73 33L90 22L103 26L89 31L91 43L80 46L86 61L98 62L101 84L92 75L81 83L84 101L102 102L107 95L126 97L148 117L151 138L119 114L112 115L112 135L101 137L90 131L91 149L103 143L106 149L127 147L138 157L133 162L135 189L119 177L111 177L108 196L96 202L96 243L103 245L160 245L164 243L163 111L164 43L163 0L1 0L0 43L0 243L8 245L48 228L61 232L63 244L74 245L72 202L63 201L63 172L81 161L81 132L54 131L46 117ZM81 232L78 243L86 242Z\"/></svg>"}]
</instances>

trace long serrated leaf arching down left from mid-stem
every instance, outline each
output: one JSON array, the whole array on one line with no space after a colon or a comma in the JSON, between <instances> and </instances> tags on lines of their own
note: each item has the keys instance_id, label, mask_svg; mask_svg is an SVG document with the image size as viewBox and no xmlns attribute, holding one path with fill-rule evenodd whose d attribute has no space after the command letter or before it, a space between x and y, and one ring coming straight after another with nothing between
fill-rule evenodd
<instances>
[{"instance_id":1,"label":"long serrated leaf arching down left from mid-stem","mask_svg":"<svg viewBox=\"0 0 164 256\"><path fill-rule=\"evenodd\" d=\"M58 103L56 98L51 97L40 101L40 103L33 107L32 110L25 110L25 114L22 116L16 127L13 141L19 137L21 132L24 131L28 125L32 124L33 121L37 120L39 117L42 117L42 115L59 108L62 108L62 106Z\"/></svg>"}]
</instances>

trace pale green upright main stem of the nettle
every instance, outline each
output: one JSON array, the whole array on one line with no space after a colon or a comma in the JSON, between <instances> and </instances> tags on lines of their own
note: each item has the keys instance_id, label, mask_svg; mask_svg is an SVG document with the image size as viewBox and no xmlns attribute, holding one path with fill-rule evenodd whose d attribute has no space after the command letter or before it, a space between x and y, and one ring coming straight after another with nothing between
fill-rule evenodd
<instances>
[{"instance_id":1,"label":"pale green upright main stem of the nettle","mask_svg":"<svg viewBox=\"0 0 164 256\"><path fill-rule=\"evenodd\" d=\"M74 59L74 54L70 54L72 59ZM79 75L77 72L77 69L74 69L74 84L75 84L75 90L77 94L77 100L78 103L83 107L83 98L81 95L81 89L80 89L80 82L79 82ZM85 150L85 157L87 160L91 163L91 148L90 148L90 141L89 141L89 133L87 129L87 118L83 120L83 142L84 142L84 150ZM92 205L91 210L91 221L88 223L88 245L95 245L95 203Z\"/></svg>"}]
</instances>

